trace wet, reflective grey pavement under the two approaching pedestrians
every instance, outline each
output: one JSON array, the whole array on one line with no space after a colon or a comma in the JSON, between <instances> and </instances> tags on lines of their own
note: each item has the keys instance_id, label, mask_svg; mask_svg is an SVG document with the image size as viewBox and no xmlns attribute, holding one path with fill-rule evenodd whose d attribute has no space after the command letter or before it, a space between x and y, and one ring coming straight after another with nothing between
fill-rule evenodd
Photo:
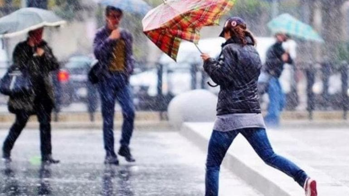
<instances>
[{"instance_id":1,"label":"wet, reflective grey pavement under the two approaching pedestrians","mask_svg":"<svg viewBox=\"0 0 349 196\"><path fill-rule=\"evenodd\" d=\"M0 130L1 142L7 130ZM120 132L115 132L118 141ZM57 165L40 164L39 132L23 130L12 163L0 163L0 195L204 195L205 154L170 130L135 131L135 163L104 165L101 130L52 133ZM118 150L116 142L116 150ZM258 196L256 190L221 169L220 195Z\"/></svg>"}]
</instances>

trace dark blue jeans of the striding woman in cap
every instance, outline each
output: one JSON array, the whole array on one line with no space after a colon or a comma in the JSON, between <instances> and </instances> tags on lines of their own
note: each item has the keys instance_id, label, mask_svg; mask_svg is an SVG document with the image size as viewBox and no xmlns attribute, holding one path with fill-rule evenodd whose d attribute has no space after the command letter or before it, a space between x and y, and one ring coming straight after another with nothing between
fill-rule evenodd
<instances>
[{"instance_id":1,"label":"dark blue jeans of the striding woman in cap","mask_svg":"<svg viewBox=\"0 0 349 196\"><path fill-rule=\"evenodd\" d=\"M241 133L252 146L258 156L269 166L272 166L291 176L303 187L307 174L297 165L273 151L265 129L244 128L228 132L213 130L207 153L206 162L206 196L218 195L218 179L222 160L234 138Z\"/></svg>"}]
</instances>

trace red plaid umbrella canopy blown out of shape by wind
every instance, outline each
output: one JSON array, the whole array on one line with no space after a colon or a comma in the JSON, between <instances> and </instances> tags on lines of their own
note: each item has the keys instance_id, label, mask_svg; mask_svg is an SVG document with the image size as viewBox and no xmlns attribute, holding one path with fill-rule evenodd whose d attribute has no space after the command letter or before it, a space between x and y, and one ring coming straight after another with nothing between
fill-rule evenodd
<instances>
[{"instance_id":1,"label":"red plaid umbrella canopy blown out of shape by wind","mask_svg":"<svg viewBox=\"0 0 349 196\"><path fill-rule=\"evenodd\" d=\"M200 29L218 25L235 0L163 0L143 18L143 32L163 52L176 61L181 39L195 44Z\"/></svg>"}]
</instances>

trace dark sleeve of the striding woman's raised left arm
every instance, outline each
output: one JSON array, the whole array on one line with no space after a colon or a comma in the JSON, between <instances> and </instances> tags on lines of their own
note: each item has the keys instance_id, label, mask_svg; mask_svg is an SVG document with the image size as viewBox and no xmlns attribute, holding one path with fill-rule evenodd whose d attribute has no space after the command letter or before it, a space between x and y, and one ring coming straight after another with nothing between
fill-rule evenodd
<instances>
[{"instance_id":1,"label":"dark sleeve of the striding woman's raised left arm","mask_svg":"<svg viewBox=\"0 0 349 196\"><path fill-rule=\"evenodd\" d=\"M223 58L209 58L203 64L206 73L218 85L228 84L233 79L231 69L234 69L236 64L234 51L230 47L223 48L222 54Z\"/></svg>"}]
</instances>

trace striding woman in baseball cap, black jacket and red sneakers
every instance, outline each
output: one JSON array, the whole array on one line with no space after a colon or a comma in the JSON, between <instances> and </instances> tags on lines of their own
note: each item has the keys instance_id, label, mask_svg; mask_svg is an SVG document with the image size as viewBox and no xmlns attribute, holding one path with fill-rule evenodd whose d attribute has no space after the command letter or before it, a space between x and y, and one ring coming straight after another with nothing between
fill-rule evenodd
<instances>
[{"instance_id":1,"label":"striding woman in baseball cap, black jacket and red sneakers","mask_svg":"<svg viewBox=\"0 0 349 196\"><path fill-rule=\"evenodd\" d=\"M277 154L269 143L257 92L262 67L255 39L242 18L231 17L223 27L226 39L218 60L202 54L204 69L220 85L217 117L206 162L206 196L218 195L222 160L234 138L241 133L266 164L291 176L304 187L306 196L316 196L316 182L294 163Z\"/></svg>"}]
</instances>

